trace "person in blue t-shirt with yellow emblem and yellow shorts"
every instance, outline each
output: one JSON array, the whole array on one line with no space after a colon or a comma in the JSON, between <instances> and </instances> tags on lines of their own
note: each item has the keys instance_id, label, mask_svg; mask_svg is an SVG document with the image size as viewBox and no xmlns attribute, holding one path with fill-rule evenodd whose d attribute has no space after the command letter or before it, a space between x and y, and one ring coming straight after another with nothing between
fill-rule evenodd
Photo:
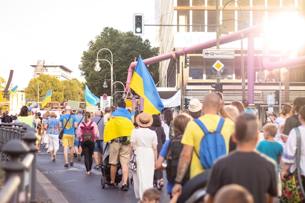
<instances>
[{"instance_id":1,"label":"person in blue t-shirt with yellow emblem and yellow shorts","mask_svg":"<svg viewBox=\"0 0 305 203\"><path fill-rule=\"evenodd\" d=\"M65 157L65 167L68 167L68 148L70 148L70 166L74 165L73 162L73 145L74 145L74 129L77 128L77 122L75 115L71 114L71 107L66 106L65 114L61 115L59 118L59 131L63 130L62 135L62 146L63 146L63 155ZM70 118L69 118L70 117ZM68 120L69 119L69 120ZM66 126L64 128L64 126ZM63 129L64 128L64 129Z\"/></svg>"}]
</instances>

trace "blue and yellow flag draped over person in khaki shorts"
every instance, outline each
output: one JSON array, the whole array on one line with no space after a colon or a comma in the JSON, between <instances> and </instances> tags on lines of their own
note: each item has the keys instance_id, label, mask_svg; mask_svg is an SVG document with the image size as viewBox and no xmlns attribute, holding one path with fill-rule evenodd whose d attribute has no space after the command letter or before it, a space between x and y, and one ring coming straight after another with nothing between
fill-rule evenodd
<instances>
[{"instance_id":1,"label":"blue and yellow flag draped over person in khaki shorts","mask_svg":"<svg viewBox=\"0 0 305 203\"><path fill-rule=\"evenodd\" d=\"M121 108L120 108L121 109ZM111 115L114 115L114 118L110 118L106 122L104 130L104 142L109 142L118 137L131 136L134 129L133 122L131 121L131 114L126 109L120 111L118 109L117 114L114 111Z\"/></svg>"}]
</instances>

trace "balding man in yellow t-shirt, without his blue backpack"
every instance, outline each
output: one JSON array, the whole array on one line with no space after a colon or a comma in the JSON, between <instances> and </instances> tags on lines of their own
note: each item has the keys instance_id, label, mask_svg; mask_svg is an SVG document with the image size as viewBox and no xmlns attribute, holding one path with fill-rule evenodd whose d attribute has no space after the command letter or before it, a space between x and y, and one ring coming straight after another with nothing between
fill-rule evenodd
<instances>
[{"instance_id":1,"label":"balding man in yellow t-shirt, without his blue backpack","mask_svg":"<svg viewBox=\"0 0 305 203\"><path fill-rule=\"evenodd\" d=\"M215 92L208 93L202 101L202 113L198 119L206 126L209 131L216 130L221 117L218 115L218 111L222 108L222 100ZM229 139L234 132L234 123L225 118L223 127L220 131L225 139L227 146L227 153L229 151ZM203 130L197 125L195 121L190 121L187 128L184 131L181 143L183 149L180 154L180 161L177 168L176 184L172 189L172 195L176 193L181 194L182 186L181 181L191 164L190 178L192 179L196 175L204 172L206 169L201 165L200 160L196 153L200 150L200 141L205 136ZM195 151L196 150L196 151Z\"/></svg>"}]
</instances>

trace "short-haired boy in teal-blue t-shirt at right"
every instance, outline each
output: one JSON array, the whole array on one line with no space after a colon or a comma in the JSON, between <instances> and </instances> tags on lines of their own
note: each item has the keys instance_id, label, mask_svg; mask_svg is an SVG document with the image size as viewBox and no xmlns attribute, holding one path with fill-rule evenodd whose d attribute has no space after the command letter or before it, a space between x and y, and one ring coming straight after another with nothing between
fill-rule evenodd
<instances>
[{"instance_id":1,"label":"short-haired boy in teal-blue t-shirt at right","mask_svg":"<svg viewBox=\"0 0 305 203\"><path fill-rule=\"evenodd\" d=\"M257 150L272 158L277 166L279 172L279 164L283 154L283 146L274 140L277 134L277 127L274 124L268 124L263 127L265 140L260 142Z\"/></svg>"}]
</instances>

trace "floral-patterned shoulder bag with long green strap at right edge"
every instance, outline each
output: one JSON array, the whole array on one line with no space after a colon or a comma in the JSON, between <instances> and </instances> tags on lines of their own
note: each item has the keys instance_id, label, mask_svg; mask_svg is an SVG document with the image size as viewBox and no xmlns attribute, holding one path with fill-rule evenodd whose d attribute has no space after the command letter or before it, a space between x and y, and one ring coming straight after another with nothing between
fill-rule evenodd
<instances>
[{"instance_id":1,"label":"floral-patterned shoulder bag with long green strap at right edge","mask_svg":"<svg viewBox=\"0 0 305 203\"><path fill-rule=\"evenodd\" d=\"M297 169L293 173L288 173L286 182L282 181L281 203L304 203L305 192L301 177L301 132L294 128L297 133Z\"/></svg>"}]
</instances>

